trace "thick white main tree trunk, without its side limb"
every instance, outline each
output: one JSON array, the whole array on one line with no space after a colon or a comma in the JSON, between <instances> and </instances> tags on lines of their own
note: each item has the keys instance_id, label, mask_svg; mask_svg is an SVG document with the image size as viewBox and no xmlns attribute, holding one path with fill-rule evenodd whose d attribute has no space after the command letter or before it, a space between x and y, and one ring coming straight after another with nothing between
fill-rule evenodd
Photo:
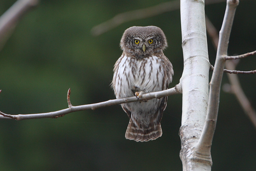
<instances>
[{"instance_id":1,"label":"thick white main tree trunk, without its side limb","mask_svg":"<svg viewBox=\"0 0 256 171\"><path fill-rule=\"evenodd\" d=\"M180 159L183 170L211 170L211 155L193 150L201 135L208 106L209 69L204 0L181 0L181 33L184 70Z\"/></svg>"}]
</instances>

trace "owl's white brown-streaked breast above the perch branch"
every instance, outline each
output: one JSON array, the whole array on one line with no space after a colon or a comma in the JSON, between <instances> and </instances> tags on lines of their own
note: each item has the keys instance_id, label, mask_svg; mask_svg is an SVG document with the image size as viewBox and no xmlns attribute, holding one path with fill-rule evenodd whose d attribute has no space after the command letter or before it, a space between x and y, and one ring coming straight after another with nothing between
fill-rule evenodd
<instances>
[{"instance_id":1,"label":"owl's white brown-streaked breast above the perch branch","mask_svg":"<svg viewBox=\"0 0 256 171\"><path fill-rule=\"evenodd\" d=\"M121 56L116 68L115 93L117 98L134 96L132 89L145 93L162 90L163 61L156 57L132 58Z\"/></svg>"}]
</instances>

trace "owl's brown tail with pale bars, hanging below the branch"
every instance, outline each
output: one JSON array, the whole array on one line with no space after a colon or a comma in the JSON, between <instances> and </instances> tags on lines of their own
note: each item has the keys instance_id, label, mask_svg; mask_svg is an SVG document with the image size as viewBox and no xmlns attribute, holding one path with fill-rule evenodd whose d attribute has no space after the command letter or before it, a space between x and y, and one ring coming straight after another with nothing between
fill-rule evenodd
<instances>
[{"instance_id":1,"label":"owl's brown tail with pale bars, hanging below the branch","mask_svg":"<svg viewBox=\"0 0 256 171\"><path fill-rule=\"evenodd\" d=\"M130 118L129 125L127 127L125 138L129 140L134 141L149 141L149 140L155 140L156 138L162 136L162 128L160 123L158 125L153 125L148 128L139 128L137 127L133 121L132 118Z\"/></svg>"}]
</instances>

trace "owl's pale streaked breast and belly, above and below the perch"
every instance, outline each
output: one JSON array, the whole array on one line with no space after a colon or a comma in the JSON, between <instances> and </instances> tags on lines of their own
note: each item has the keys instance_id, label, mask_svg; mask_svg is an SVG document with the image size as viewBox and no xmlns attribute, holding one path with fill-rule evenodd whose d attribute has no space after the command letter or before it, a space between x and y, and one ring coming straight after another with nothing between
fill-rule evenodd
<instances>
[{"instance_id":1,"label":"owl's pale streaked breast and belly, above and below the perch","mask_svg":"<svg viewBox=\"0 0 256 171\"><path fill-rule=\"evenodd\" d=\"M144 93L163 90L164 71L160 66L162 62L156 56L136 59L124 56L118 66L115 93L117 98L135 96L135 92ZM143 121L148 125L153 115L158 111L160 99L152 99L147 102L133 102L122 104L132 112L132 120Z\"/></svg>"}]
</instances>

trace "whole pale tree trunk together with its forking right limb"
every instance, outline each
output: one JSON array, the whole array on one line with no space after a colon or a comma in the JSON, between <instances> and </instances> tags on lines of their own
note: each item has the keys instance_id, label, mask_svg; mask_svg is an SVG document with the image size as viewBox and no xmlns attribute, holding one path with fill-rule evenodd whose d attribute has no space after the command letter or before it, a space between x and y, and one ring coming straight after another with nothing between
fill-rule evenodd
<instances>
[{"instance_id":1,"label":"whole pale tree trunk together with its forking right limb","mask_svg":"<svg viewBox=\"0 0 256 171\"><path fill-rule=\"evenodd\" d=\"M220 103L220 83L224 65L227 59L246 56L227 56L228 40L238 4L239 0L227 0L208 103L210 63L207 53L204 0L181 0L180 3L184 55L184 71L180 79L183 93L180 158L184 171L211 170L211 145Z\"/></svg>"}]
</instances>

